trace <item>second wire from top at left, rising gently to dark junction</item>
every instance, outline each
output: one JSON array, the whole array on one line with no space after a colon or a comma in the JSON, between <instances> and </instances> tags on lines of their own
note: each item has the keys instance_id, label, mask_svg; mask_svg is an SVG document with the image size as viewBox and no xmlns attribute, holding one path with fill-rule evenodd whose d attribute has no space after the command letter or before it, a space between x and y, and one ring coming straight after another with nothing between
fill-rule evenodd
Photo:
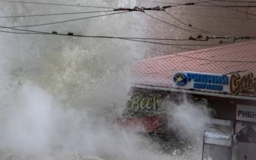
<instances>
[{"instance_id":1,"label":"second wire from top at left, rising gently to dark junction","mask_svg":"<svg viewBox=\"0 0 256 160\"><path fill-rule=\"evenodd\" d=\"M74 15L74 14L83 14L83 13L103 13L103 12L113 12L113 10L92 11L92 12L72 12L72 13L52 13L52 14L41 14L41 15L13 15L13 16L0 16L0 18L44 17L44 16L51 16L51 15Z\"/></svg>"}]
</instances>

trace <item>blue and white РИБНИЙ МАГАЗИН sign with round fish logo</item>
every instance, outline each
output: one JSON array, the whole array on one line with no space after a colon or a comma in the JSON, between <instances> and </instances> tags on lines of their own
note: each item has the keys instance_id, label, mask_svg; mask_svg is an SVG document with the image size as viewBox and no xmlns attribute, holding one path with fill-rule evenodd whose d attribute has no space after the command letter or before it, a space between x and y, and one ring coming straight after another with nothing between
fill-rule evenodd
<instances>
[{"instance_id":1,"label":"blue and white \u0420\u0418\u0411\u041d\u0418\u0419 \u041c\u0410\u0413\u0410\u0417\u0418\u041d sign with round fish logo","mask_svg":"<svg viewBox=\"0 0 256 160\"><path fill-rule=\"evenodd\" d=\"M229 77L199 72L173 72L173 87L229 92Z\"/></svg>"}]
</instances>

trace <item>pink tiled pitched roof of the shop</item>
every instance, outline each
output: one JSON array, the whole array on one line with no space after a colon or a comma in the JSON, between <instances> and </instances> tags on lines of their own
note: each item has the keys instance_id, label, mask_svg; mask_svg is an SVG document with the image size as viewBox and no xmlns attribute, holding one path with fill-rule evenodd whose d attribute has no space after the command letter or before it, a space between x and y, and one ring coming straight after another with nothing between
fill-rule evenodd
<instances>
[{"instance_id":1,"label":"pink tiled pitched roof of the shop","mask_svg":"<svg viewBox=\"0 0 256 160\"><path fill-rule=\"evenodd\" d=\"M134 65L134 84L172 88L172 72L210 74L252 72L256 76L256 40L149 58Z\"/></svg>"}]
</instances>

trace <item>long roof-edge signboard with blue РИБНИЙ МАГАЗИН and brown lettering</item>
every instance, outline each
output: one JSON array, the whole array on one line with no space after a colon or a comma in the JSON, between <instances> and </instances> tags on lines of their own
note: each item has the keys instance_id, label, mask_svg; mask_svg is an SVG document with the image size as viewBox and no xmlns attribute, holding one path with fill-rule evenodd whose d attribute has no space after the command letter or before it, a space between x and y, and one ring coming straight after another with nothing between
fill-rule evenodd
<instances>
[{"instance_id":1,"label":"long roof-edge signboard with blue \u0420\u0418\u0411\u041d\u0418\u0419 \u041c\u0410\u0413\u0410\u0417\u0418\u041d and brown lettering","mask_svg":"<svg viewBox=\"0 0 256 160\"><path fill-rule=\"evenodd\" d=\"M173 87L189 90L207 90L237 95L246 93L256 95L256 77L247 74L208 74L200 72L173 72Z\"/></svg>"}]
</instances>

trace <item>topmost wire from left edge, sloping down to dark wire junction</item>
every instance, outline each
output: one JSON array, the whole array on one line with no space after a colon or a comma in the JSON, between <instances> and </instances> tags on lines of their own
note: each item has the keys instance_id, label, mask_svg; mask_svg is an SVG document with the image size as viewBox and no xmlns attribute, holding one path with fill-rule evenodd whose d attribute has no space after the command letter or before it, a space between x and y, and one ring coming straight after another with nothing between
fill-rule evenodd
<instances>
[{"instance_id":1,"label":"topmost wire from left edge, sloping down to dark wire junction","mask_svg":"<svg viewBox=\"0 0 256 160\"><path fill-rule=\"evenodd\" d=\"M54 6L76 6L76 7L86 7L86 8L105 8L105 9L115 9L113 7L104 7L104 6L83 6L83 5L74 5L74 4L58 4L58 3L38 3L38 2L27 2L27 1L4 1L0 2L6 3L24 3L24 4L44 4L44 5L54 5Z\"/></svg>"}]
</instances>

